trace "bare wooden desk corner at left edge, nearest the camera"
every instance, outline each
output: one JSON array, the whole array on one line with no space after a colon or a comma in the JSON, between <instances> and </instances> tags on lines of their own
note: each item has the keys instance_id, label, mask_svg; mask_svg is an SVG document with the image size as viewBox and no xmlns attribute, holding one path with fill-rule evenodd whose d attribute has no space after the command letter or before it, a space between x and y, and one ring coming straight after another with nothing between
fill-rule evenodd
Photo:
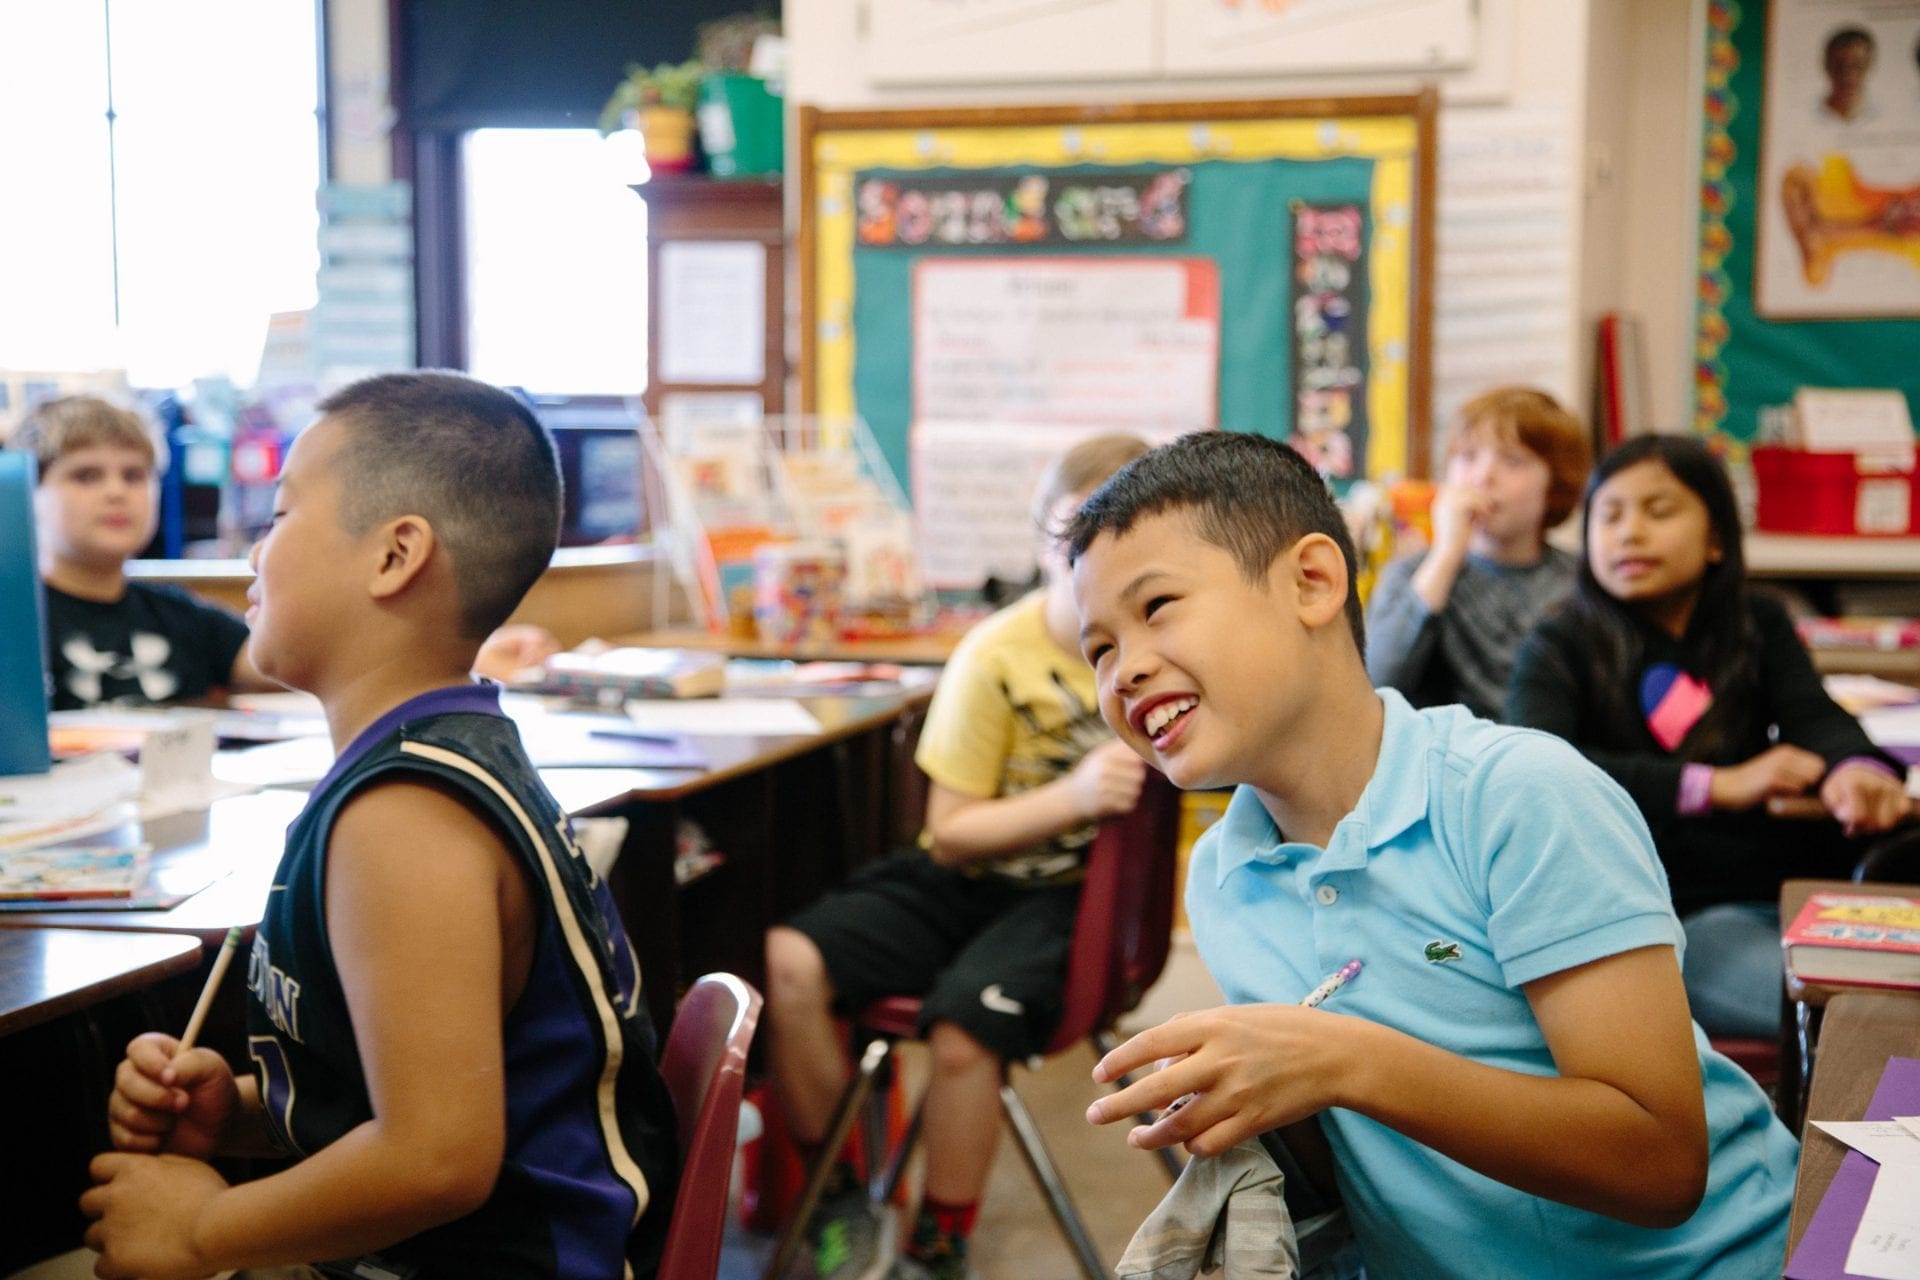
<instances>
[{"instance_id":1,"label":"bare wooden desk corner at left edge, nearest the camera","mask_svg":"<svg viewBox=\"0 0 1920 1280\"><path fill-rule=\"evenodd\" d=\"M8 929L0 933L0 1036L125 996L200 960L200 942L163 933Z\"/></svg>"}]
</instances>

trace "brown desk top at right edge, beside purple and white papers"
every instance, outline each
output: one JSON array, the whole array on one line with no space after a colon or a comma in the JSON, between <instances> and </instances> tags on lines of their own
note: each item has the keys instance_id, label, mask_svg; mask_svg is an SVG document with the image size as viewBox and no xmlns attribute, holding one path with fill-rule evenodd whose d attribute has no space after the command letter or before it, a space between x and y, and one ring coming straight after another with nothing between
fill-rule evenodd
<instances>
[{"instance_id":1,"label":"brown desk top at right edge, beside purple and white papers","mask_svg":"<svg viewBox=\"0 0 1920 1280\"><path fill-rule=\"evenodd\" d=\"M1866 1111L1887 1057L1920 1052L1920 998L1903 992L1847 990L1826 1006L1820 1031L1820 1063L1812 1073L1807 1119L1857 1121ZM1801 1142L1793 1178L1793 1219L1788 1224L1788 1257L1799 1245L1807 1221L1839 1171L1847 1148L1816 1128Z\"/></svg>"}]
</instances>

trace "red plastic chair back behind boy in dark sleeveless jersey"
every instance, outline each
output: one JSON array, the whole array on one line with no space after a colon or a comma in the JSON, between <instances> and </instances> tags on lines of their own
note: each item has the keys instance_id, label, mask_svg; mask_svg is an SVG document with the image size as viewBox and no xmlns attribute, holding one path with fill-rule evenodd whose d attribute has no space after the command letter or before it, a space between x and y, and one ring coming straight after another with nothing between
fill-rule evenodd
<instances>
[{"instance_id":1,"label":"red plastic chair back behind boy in dark sleeveless jersey","mask_svg":"<svg viewBox=\"0 0 1920 1280\"><path fill-rule=\"evenodd\" d=\"M758 1021L760 992L732 973L695 981L674 1013L660 1075L680 1113L680 1194L659 1280L714 1280L720 1272L739 1096Z\"/></svg>"}]
</instances>

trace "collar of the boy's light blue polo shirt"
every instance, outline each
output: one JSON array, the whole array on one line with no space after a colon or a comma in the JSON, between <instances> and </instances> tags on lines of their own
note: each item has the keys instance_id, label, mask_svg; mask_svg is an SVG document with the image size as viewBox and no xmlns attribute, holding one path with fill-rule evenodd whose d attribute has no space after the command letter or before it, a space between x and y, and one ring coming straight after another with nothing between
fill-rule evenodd
<instances>
[{"instance_id":1,"label":"collar of the boy's light blue polo shirt","mask_svg":"<svg viewBox=\"0 0 1920 1280\"><path fill-rule=\"evenodd\" d=\"M1317 869L1350 871L1427 816L1427 750L1432 731L1427 718L1396 691L1380 689L1384 723L1380 758L1354 812L1340 819L1325 852L1311 844L1286 842L1252 787L1238 787L1221 816L1221 846L1215 887L1250 862L1279 865L1302 854L1319 854ZM1359 825L1354 831L1354 823Z\"/></svg>"}]
</instances>

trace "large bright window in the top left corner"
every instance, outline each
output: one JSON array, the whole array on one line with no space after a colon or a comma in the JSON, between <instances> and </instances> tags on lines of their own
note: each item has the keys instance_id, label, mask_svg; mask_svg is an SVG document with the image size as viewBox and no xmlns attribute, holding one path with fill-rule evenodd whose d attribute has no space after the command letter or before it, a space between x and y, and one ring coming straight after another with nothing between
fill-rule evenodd
<instances>
[{"instance_id":1,"label":"large bright window in the top left corner","mask_svg":"<svg viewBox=\"0 0 1920 1280\"><path fill-rule=\"evenodd\" d=\"M252 384L315 301L315 0L0 4L0 367Z\"/></svg>"}]
</instances>

